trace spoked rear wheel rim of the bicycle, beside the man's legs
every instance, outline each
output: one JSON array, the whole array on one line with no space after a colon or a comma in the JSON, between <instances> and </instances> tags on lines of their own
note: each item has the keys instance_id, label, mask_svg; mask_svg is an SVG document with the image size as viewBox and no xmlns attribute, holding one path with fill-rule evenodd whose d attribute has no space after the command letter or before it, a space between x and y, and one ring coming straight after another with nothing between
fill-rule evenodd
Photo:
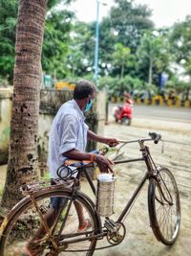
<instances>
[{"instance_id":1,"label":"spoked rear wheel rim of the bicycle, beside the man's legs","mask_svg":"<svg viewBox=\"0 0 191 256\"><path fill-rule=\"evenodd\" d=\"M58 250L55 251L53 249L53 243L50 242L50 239L43 228L44 231L41 233L40 239L38 238L35 243L38 244L37 252L32 255L93 255L96 247L96 239L93 238L93 236L98 230L96 214L94 213L93 207L87 200L81 197L80 194L75 197L74 201L81 203L83 206L85 218L92 223L92 226L85 232L78 232L79 222L74 207L74 201L71 200L71 194L69 192L52 191L35 197L36 204L40 209L43 218L45 218L49 211L52 211L53 209L53 206L50 203L51 198L61 198L65 202L67 198L67 203L65 203L65 207L56 221L56 226L52 225L50 228L52 230L53 238L57 238L56 244L58 244ZM67 209L70 204L70 211L67 214ZM60 227L64 220L66 222L60 234L60 238L58 239ZM26 244L36 237L36 232L39 232L39 227L42 227L39 213L37 213L32 201L28 200L22 208L15 212L4 229L0 242L0 255L23 255ZM83 241L84 238L89 239ZM81 240L81 242L76 242L79 240ZM51 254L51 252L54 252L54 254Z\"/></svg>"}]
</instances>

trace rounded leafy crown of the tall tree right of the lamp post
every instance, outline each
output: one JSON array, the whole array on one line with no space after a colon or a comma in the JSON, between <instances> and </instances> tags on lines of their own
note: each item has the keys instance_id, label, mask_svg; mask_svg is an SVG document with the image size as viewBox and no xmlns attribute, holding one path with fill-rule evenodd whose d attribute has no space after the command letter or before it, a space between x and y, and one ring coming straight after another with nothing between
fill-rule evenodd
<instances>
[{"instance_id":1,"label":"rounded leafy crown of the tall tree right of the lamp post","mask_svg":"<svg viewBox=\"0 0 191 256\"><path fill-rule=\"evenodd\" d=\"M135 53L143 32L153 28L153 22L149 19L151 11L145 5L134 4L134 1L116 0L115 2L117 6L111 9L108 17L111 28L117 34L117 42L125 47L128 46Z\"/></svg>"}]
</instances>

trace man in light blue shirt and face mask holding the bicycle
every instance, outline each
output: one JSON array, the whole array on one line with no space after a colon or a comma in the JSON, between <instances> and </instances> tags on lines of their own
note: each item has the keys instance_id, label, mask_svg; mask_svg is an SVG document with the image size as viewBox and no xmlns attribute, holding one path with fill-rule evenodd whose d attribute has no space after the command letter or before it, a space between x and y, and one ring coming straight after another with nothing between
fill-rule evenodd
<instances>
[{"instance_id":1,"label":"man in light blue shirt and face mask holding the bicycle","mask_svg":"<svg viewBox=\"0 0 191 256\"><path fill-rule=\"evenodd\" d=\"M53 119L53 126L49 139L48 166L52 181L58 178L56 171L63 165L66 159L91 160L96 162L101 173L113 172L111 165L113 162L105 156L85 152L87 139L105 143L110 146L118 144L115 138L104 138L91 131L85 124L84 112L87 112L93 104L96 94L96 87L91 81L78 81L74 88L74 99L60 106ZM66 171L67 172L67 171ZM64 175L64 172L62 173ZM59 212L61 201L59 198L52 198L52 208L46 215L49 226ZM91 222L86 220L83 214L83 207L79 202L74 203L79 226L78 232L86 230L91 226ZM43 236L43 227L40 228L32 241L26 247L26 253L37 254L38 248L33 244ZM35 252L34 252L35 251Z\"/></svg>"}]
</instances>

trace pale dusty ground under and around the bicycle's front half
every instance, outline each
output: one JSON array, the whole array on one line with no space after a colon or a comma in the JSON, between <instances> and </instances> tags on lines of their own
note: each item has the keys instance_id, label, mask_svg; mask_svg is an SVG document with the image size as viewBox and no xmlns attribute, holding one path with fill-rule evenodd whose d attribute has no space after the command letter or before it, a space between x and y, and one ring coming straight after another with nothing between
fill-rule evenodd
<instances>
[{"instance_id":1,"label":"pale dusty ground under and around the bicycle's front half","mask_svg":"<svg viewBox=\"0 0 191 256\"><path fill-rule=\"evenodd\" d=\"M159 165L168 167L175 175L181 201L181 225L177 242L172 246L159 243L149 225L147 188L148 183L141 191L130 214L124 224L126 237L117 246L97 250L96 256L189 256L191 255L191 122L178 123L159 120L147 120L135 118L131 127L123 127L115 124L110 118L110 124L105 127L105 135L117 137L121 140L129 140L138 137L146 137L149 131L160 132L164 140L164 152L161 153L162 144L148 143L151 154ZM122 150L123 157L138 157L138 145L129 144ZM114 156L114 152L112 153ZM0 167L1 174L5 166ZM115 167L117 176L115 215L122 210L128 198L137 187L139 179L143 176L145 166L139 163L121 164ZM5 176L1 175L3 183ZM2 184L1 183L1 184ZM87 182L83 182L82 190L91 195ZM108 245L106 240L98 242L98 245Z\"/></svg>"}]
</instances>

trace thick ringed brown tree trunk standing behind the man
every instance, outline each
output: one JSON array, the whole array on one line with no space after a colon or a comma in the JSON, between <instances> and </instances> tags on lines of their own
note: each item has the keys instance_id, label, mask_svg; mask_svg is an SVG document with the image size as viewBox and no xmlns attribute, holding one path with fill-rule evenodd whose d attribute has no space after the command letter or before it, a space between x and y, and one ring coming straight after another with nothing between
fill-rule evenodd
<instances>
[{"instance_id":1,"label":"thick ringed brown tree trunk standing behind the man","mask_svg":"<svg viewBox=\"0 0 191 256\"><path fill-rule=\"evenodd\" d=\"M10 209L19 187L37 180L37 121L46 0L20 0L18 9L11 143L2 206Z\"/></svg>"}]
</instances>

